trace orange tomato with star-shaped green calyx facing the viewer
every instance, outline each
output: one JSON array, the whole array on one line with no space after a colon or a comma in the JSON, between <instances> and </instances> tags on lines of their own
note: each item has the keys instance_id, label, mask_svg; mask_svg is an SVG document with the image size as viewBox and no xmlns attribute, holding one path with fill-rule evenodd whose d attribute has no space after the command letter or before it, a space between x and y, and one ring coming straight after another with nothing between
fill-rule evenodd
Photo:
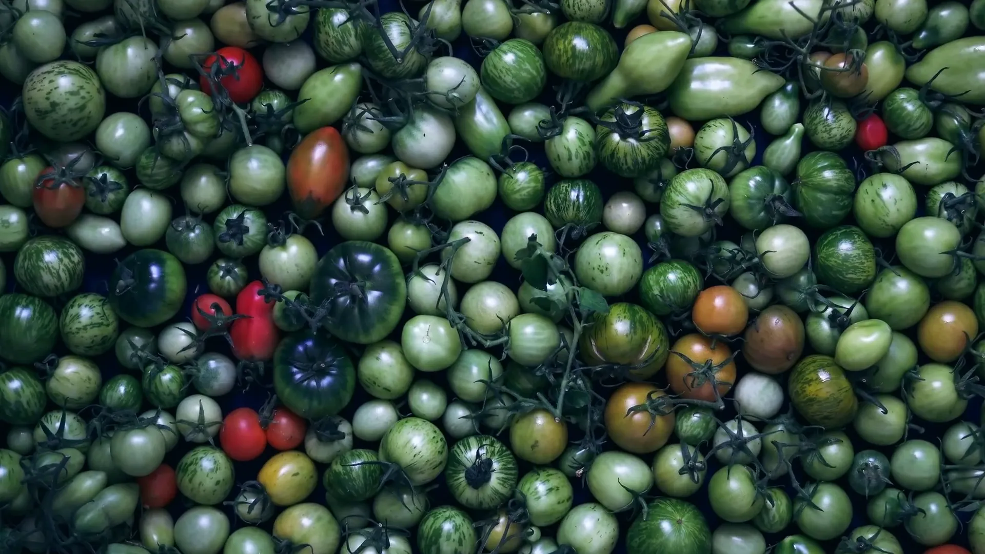
<instances>
[{"instance_id":1,"label":"orange tomato with star-shaped green calyx facing the viewer","mask_svg":"<svg viewBox=\"0 0 985 554\"><path fill-rule=\"evenodd\" d=\"M682 354L697 367L682 358ZM712 345L712 339L690 333L679 338L671 348L666 366L667 382L674 392L685 398L714 402L714 386L718 388L718 395L724 396L735 384L736 363L730 360L731 357L732 350L725 343L718 341Z\"/></svg>"}]
</instances>

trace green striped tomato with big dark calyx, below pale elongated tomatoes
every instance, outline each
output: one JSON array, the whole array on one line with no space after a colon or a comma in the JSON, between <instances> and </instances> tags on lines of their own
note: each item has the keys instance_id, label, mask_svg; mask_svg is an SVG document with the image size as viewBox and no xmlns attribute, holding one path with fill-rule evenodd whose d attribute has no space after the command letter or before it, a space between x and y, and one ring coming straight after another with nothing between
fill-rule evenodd
<instances>
[{"instance_id":1,"label":"green striped tomato with big dark calyx, below pale elongated tomatoes","mask_svg":"<svg viewBox=\"0 0 985 554\"><path fill-rule=\"evenodd\" d=\"M595 127L602 165L624 177L637 177L660 164L671 145L667 121L648 105L619 104Z\"/></svg>"}]
</instances>

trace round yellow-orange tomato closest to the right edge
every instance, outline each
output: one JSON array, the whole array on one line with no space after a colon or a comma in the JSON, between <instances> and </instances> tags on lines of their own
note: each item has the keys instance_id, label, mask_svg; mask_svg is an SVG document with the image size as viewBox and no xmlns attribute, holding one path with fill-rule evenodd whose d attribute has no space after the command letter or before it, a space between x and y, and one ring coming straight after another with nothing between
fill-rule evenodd
<instances>
[{"instance_id":1,"label":"round yellow-orange tomato closest to the right edge","mask_svg":"<svg viewBox=\"0 0 985 554\"><path fill-rule=\"evenodd\" d=\"M966 305L948 300L931 307L917 327L920 348L935 362L956 360L978 334L978 319Z\"/></svg>"}]
</instances>

